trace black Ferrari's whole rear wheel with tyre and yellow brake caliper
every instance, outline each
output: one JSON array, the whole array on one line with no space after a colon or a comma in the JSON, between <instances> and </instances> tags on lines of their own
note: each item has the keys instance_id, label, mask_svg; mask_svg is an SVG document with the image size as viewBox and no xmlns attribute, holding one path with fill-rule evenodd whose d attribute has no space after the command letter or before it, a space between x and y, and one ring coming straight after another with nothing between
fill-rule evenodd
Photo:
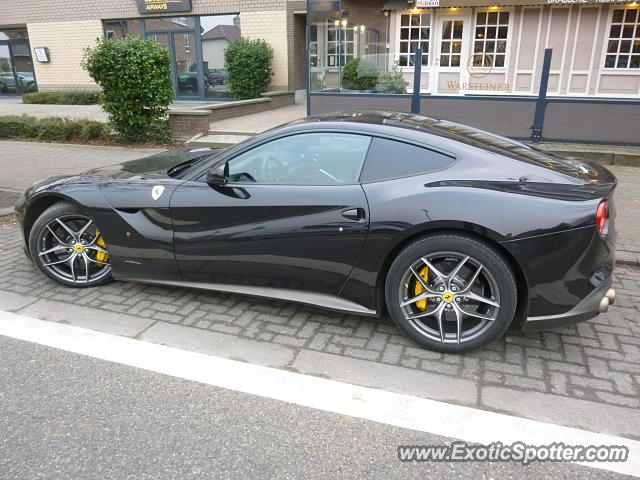
<instances>
[{"instance_id":1,"label":"black Ferrari's whole rear wheel with tyre and yellow brake caliper","mask_svg":"<svg viewBox=\"0 0 640 480\"><path fill-rule=\"evenodd\" d=\"M391 264L387 308L407 335L430 350L462 353L507 330L516 282L494 248L459 234L437 234L406 247Z\"/></svg>"}]
</instances>

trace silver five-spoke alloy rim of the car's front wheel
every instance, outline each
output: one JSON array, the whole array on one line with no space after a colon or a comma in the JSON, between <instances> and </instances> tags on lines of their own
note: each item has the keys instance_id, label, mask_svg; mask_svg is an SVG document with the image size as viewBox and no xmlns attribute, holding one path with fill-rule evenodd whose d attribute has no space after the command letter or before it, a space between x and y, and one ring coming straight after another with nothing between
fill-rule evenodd
<instances>
[{"instance_id":1,"label":"silver five-spoke alloy rim of the car's front wheel","mask_svg":"<svg viewBox=\"0 0 640 480\"><path fill-rule=\"evenodd\" d=\"M93 228L89 228L93 225ZM111 264L98 255L109 252L96 245L100 233L93 220L78 214L50 220L38 238L41 265L65 283L90 284L109 275ZM108 257L106 257L108 258Z\"/></svg>"}]
</instances>

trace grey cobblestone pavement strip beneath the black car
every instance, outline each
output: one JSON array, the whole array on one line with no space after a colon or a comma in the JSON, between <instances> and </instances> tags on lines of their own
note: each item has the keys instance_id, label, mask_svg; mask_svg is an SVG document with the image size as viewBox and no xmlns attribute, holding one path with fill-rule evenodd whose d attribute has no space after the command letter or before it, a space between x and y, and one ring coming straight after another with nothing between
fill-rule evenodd
<instances>
[{"instance_id":1,"label":"grey cobblestone pavement strip beneath the black car","mask_svg":"<svg viewBox=\"0 0 640 480\"><path fill-rule=\"evenodd\" d=\"M512 329L489 347L456 356L418 348L388 318L361 318L293 303L128 282L68 289L42 275L21 249L17 227L0 226L0 294L20 293L45 304L49 300L67 302L280 344L299 352L325 352L436 372L467 379L478 390L499 386L514 392L640 408L640 270L629 266L619 266L615 272L618 300L607 314L547 332Z\"/></svg>"}]
</instances>

